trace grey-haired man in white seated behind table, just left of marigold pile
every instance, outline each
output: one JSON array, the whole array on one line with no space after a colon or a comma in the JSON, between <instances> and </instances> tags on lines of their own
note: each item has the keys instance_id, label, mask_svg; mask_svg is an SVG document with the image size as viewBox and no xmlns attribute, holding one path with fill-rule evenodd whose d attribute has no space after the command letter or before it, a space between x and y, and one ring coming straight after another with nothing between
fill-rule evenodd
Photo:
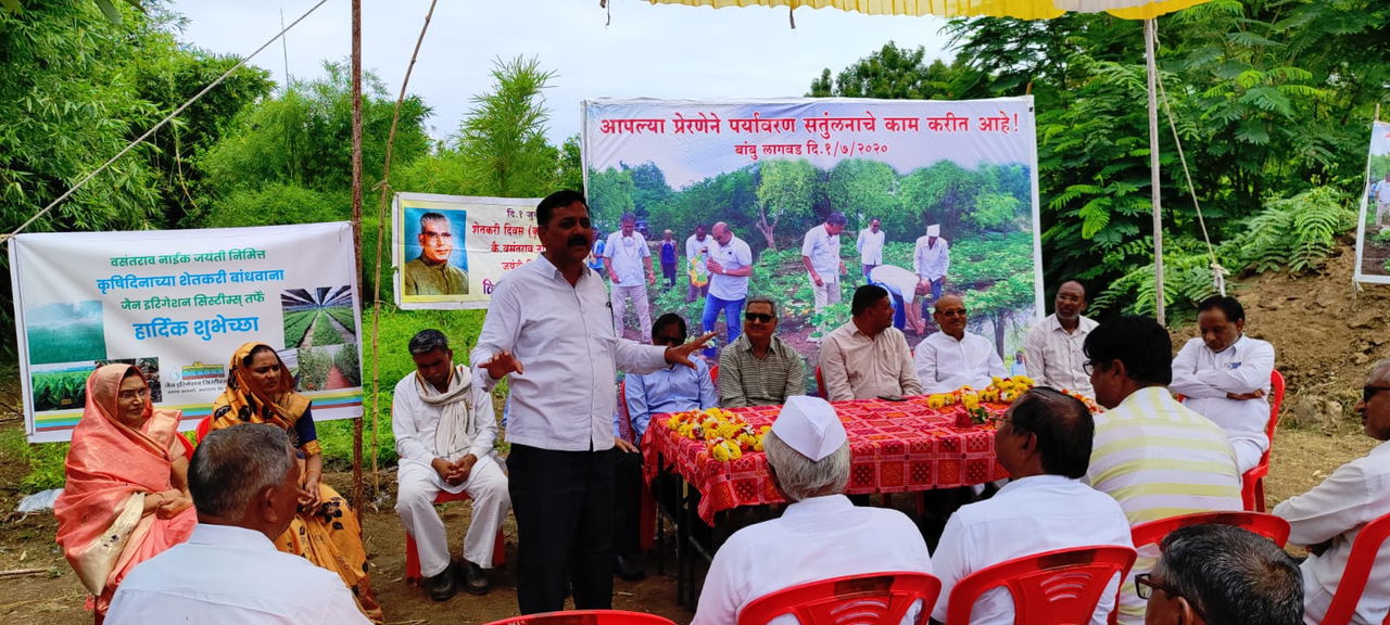
<instances>
[{"instance_id":1,"label":"grey-haired man in white seated behind table, just left of marigold pile","mask_svg":"<svg viewBox=\"0 0 1390 625\"><path fill-rule=\"evenodd\" d=\"M994 343L965 331L969 318L960 296L941 296L931 318L941 332L917 343L917 356L912 361L923 393L949 393L962 386L979 390L990 386L990 378L1006 375Z\"/></svg>"}]
</instances>

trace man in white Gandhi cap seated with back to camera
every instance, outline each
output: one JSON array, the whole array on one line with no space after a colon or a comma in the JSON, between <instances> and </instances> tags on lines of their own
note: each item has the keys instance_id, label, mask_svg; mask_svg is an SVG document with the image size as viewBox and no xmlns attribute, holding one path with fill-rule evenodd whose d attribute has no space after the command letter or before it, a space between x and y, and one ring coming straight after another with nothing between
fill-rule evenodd
<instances>
[{"instance_id":1,"label":"man in white Gandhi cap seated with back to camera","mask_svg":"<svg viewBox=\"0 0 1390 625\"><path fill-rule=\"evenodd\" d=\"M777 490L791 504L781 518L739 529L719 549L691 625L737 622L752 600L799 583L931 572L927 543L905 514L856 507L842 494L849 482L849 440L826 400L787 397L763 438L763 450ZM913 622L920 610L915 606L903 622ZM784 621L796 622L790 615L773 622Z\"/></svg>"}]
</instances>

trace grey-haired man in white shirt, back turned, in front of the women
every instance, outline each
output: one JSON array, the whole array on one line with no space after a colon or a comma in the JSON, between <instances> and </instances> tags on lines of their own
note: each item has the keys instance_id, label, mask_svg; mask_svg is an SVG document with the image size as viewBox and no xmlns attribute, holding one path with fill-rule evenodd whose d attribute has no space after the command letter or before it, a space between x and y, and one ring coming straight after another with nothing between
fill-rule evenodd
<instances>
[{"instance_id":1,"label":"grey-haired man in white shirt, back turned, in front of the women","mask_svg":"<svg viewBox=\"0 0 1390 625\"><path fill-rule=\"evenodd\" d=\"M299 464L284 429L210 432L189 461L188 488L197 528L131 571L108 625L368 624L338 574L275 550L299 506Z\"/></svg>"}]
</instances>

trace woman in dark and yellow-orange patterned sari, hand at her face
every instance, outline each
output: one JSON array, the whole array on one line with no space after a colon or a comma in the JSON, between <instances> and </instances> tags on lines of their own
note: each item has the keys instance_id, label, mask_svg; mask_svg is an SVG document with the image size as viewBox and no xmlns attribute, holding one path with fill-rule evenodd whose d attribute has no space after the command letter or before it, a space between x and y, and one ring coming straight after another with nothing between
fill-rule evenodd
<instances>
[{"instance_id":1,"label":"woman in dark and yellow-orange patterned sari, hand at her face","mask_svg":"<svg viewBox=\"0 0 1390 625\"><path fill-rule=\"evenodd\" d=\"M275 547L303 556L338 574L357 600L357 608L382 622L381 606L367 582L367 550L361 525L348 501L322 483L324 456L309 412L309 397L295 393L295 379L275 349L246 343L232 354L227 390L213 403L211 429L240 424L272 424L289 432L299 449L299 514Z\"/></svg>"}]
</instances>

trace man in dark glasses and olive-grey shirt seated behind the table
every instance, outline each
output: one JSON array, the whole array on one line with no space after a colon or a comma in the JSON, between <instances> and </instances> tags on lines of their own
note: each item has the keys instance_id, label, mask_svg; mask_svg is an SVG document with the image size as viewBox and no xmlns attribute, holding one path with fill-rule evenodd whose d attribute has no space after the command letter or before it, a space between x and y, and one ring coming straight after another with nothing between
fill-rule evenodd
<instances>
[{"instance_id":1,"label":"man in dark glasses and olive-grey shirt seated behind the table","mask_svg":"<svg viewBox=\"0 0 1390 625\"><path fill-rule=\"evenodd\" d=\"M798 394L806 394L806 365L777 338L777 304L752 297L744 311L744 333L719 354L719 404L781 404Z\"/></svg>"}]
</instances>

